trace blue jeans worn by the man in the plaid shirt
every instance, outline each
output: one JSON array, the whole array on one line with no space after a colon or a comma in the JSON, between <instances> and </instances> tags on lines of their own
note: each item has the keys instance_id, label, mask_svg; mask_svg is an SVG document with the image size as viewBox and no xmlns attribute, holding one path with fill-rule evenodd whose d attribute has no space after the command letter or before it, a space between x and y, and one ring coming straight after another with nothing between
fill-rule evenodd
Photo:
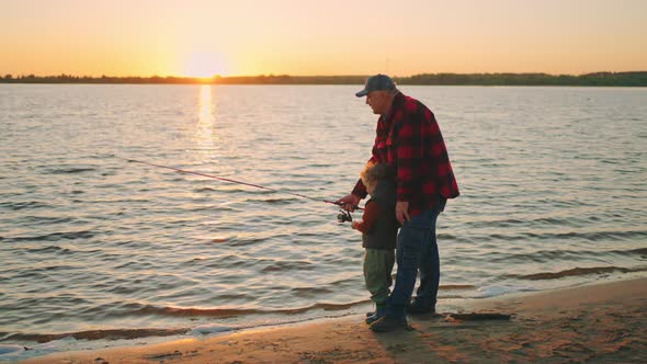
<instances>
[{"instance_id":1,"label":"blue jeans worn by the man in the plaid shirt","mask_svg":"<svg viewBox=\"0 0 647 364\"><path fill-rule=\"evenodd\" d=\"M440 282L440 260L435 241L435 223L440 208L431 208L405 221L398 234L396 249L395 287L386 302L386 315L401 318L409 306L418 270L420 287L416 300L418 304L435 306Z\"/></svg>"}]
</instances>

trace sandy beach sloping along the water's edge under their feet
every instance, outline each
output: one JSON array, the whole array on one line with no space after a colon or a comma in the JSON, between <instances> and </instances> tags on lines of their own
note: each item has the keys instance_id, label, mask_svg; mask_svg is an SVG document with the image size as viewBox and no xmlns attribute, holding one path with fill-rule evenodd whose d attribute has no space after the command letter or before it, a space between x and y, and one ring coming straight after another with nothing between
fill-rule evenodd
<instances>
[{"instance_id":1,"label":"sandy beach sloping along the water's edge under their feet","mask_svg":"<svg viewBox=\"0 0 647 364\"><path fill-rule=\"evenodd\" d=\"M645 363L647 278L465 302L374 333L360 316L25 363Z\"/></svg>"}]
</instances>

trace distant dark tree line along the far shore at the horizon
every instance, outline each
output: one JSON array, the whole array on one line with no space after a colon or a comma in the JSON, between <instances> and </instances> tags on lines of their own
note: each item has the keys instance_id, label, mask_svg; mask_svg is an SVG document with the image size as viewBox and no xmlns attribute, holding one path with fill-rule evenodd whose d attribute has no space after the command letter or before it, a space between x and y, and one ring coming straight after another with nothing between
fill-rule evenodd
<instances>
[{"instance_id":1,"label":"distant dark tree line along the far shore at the horizon","mask_svg":"<svg viewBox=\"0 0 647 364\"><path fill-rule=\"evenodd\" d=\"M1 75L1 73L0 73ZM261 75L211 78L0 76L0 83L169 83L169 84L363 84L366 76ZM580 76L547 73L422 73L394 77L398 84L441 86L622 86L647 87L647 71L595 72Z\"/></svg>"}]
</instances>

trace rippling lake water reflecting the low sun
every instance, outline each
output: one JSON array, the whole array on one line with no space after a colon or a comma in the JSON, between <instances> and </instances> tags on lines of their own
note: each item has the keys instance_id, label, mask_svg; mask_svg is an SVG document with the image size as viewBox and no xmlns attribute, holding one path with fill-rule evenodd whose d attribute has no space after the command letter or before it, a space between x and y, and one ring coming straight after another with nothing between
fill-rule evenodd
<instances>
[{"instance_id":1,"label":"rippling lake water reflecting the low sun","mask_svg":"<svg viewBox=\"0 0 647 364\"><path fill-rule=\"evenodd\" d=\"M360 88L0 84L0 340L43 352L370 308L361 236L319 201L370 157ZM462 192L439 218L440 311L647 276L647 89L401 90L434 111Z\"/></svg>"}]
</instances>

